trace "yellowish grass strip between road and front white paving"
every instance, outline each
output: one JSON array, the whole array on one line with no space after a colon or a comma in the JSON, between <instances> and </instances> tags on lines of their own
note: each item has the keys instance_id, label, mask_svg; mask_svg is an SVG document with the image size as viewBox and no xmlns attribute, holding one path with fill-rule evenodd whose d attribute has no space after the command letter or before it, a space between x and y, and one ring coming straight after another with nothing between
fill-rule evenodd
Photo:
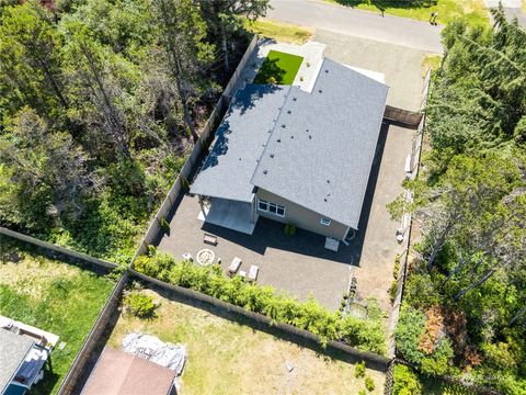
<instances>
[{"instance_id":1,"label":"yellowish grass strip between road and front white paving","mask_svg":"<svg viewBox=\"0 0 526 395\"><path fill-rule=\"evenodd\" d=\"M271 19L253 22L245 19L244 27L252 33L275 40L278 43L304 44L312 36L312 31L309 29Z\"/></svg>"}]
</instances>

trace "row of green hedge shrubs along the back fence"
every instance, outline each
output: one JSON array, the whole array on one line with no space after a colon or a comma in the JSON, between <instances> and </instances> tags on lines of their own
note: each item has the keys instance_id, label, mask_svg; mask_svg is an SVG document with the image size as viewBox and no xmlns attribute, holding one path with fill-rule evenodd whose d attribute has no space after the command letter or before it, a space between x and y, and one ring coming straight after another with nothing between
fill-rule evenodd
<instances>
[{"instance_id":1,"label":"row of green hedge shrubs along the back fence","mask_svg":"<svg viewBox=\"0 0 526 395\"><path fill-rule=\"evenodd\" d=\"M203 268L188 261L178 262L150 247L149 253L138 257L134 268L146 275L173 285L192 289L248 311L266 315L317 335L322 345L342 340L361 350L386 353L385 317L376 301L368 301L367 319L353 316L342 318L322 307L315 298L298 302L272 286L244 282L239 275L227 278L220 267Z\"/></svg>"}]
</instances>

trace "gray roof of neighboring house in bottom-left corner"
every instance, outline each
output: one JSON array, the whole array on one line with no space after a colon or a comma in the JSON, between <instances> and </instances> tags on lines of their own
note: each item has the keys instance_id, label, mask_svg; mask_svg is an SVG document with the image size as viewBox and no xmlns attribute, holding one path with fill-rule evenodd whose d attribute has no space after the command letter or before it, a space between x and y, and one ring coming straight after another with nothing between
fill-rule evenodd
<instances>
[{"instance_id":1,"label":"gray roof of neighboring house in bottom-left corner","mask_svg":"<svg viewBox=\"0 0 526 395\"><path fill-rule=\"evenodd\" d=\"M25 336L0 328L0 393L18 372L34 341Z\"/></svg>"}]
</instances>

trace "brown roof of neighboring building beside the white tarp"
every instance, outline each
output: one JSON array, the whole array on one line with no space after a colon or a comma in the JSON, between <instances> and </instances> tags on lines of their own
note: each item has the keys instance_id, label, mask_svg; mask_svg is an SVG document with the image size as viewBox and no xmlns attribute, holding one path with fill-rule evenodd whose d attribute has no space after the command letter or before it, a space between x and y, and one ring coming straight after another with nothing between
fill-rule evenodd
<instances>
[{"instance_id":1,"label":"brown roof of neighboring building beside the white tarp","mask_svg":"<svg viewBox=\"0 0 526 395\"><path fill-rule=\"evenodd\" d=\"M167 395L175 371L105 347L81 395Z\"/></svg>"}]
</instances>

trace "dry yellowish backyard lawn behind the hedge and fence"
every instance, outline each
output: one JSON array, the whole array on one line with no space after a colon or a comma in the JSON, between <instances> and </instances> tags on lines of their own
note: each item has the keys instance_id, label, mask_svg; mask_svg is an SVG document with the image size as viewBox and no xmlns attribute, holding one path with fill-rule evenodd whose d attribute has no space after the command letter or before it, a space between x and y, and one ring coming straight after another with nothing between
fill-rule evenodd
<instances>
[{"instance_id":1,"label":"dry yellowish backyard lawn behind the hedge and fence","mask_svg":"<svg viewBox=\"0 0 526 395\"><path fill-rule=\"evenodd\" d=\"M353 364L281 340L250 326L173 302L152 290L160 306L157 317L140 320L121 315L108 345L122 347L123 337L140 331L186 346L188 360L182 375L182 394L357 394L364 379ZM286 362L294 364L288 372ZM366 371L382 394L385 375Z\"/></svg>"}]
</instances>

